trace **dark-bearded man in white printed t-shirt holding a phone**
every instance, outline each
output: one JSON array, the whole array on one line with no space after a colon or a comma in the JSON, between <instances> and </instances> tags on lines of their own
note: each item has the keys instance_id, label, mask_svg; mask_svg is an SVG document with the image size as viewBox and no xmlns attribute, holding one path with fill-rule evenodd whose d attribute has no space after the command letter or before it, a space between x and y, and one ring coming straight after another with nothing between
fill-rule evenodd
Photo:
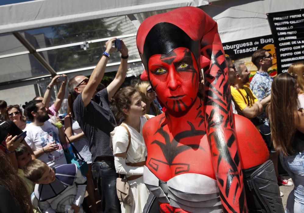
<instances>
[{"instance_id":1,"label":"dark-bearded man in white printed t-shirt holding a phone","mask_svg":"<svg viewBox=\"0 0 304 213\"><path fill-rule=\"evenodd\" d=\"M63 148L64 134L48 121L47 108L41 100L31 100L25 106L25 115L32 123L25 127L27 136L24 140L32 148L36 158L46 162L48 166L66 164Z\"/></svg>"}]
</instances>

